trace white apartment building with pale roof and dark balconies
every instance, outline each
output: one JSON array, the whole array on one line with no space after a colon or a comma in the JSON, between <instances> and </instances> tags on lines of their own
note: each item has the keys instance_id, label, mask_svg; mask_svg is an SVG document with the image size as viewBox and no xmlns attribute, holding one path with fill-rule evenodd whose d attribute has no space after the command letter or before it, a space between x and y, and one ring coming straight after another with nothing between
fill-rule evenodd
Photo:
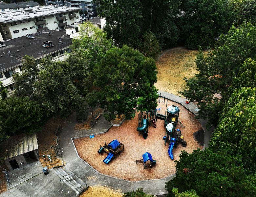
<instances>
[{"instance_id":1,"label":"white apartment building with pale roof and dark balconies","mask_svg":"<svg viewBox=\"0 0 256 197\"><path fill-rule=\"evenodd\" d=\"M0 41L42 30L65 30L80 21L81 8L43 6L0 12Z\"/></svg>"}]
</instances>

